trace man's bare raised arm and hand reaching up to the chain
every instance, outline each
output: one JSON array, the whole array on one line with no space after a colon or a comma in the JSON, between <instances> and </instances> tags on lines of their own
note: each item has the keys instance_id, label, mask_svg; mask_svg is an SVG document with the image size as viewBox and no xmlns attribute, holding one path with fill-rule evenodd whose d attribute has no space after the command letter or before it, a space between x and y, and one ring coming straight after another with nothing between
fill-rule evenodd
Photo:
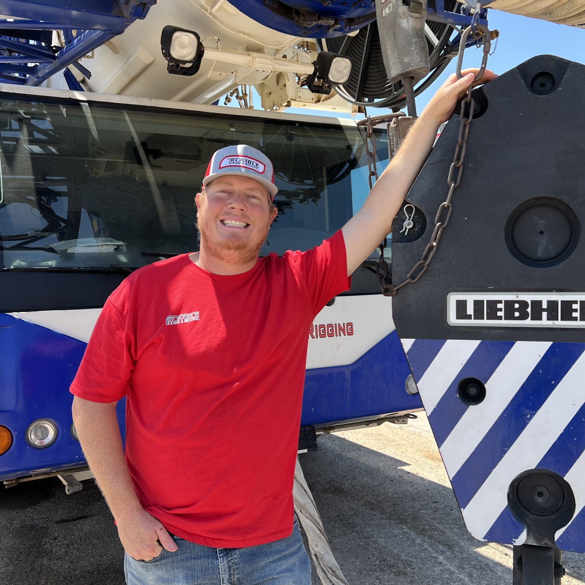
<instances>
[{"instance_id":1,"label":"man's bare raised arm and hand reaching up to the chain","mask_svg":"<svg viewBox=\"0 0 585 585\"><path fill-rule=\"evenodd\" d=\"M408 190L431 152L442 122L448 121L459 99L467 92L477 69L455 74L439 88L424 112L409 130L400 150L381 174L360 211L342 228L347 253L347 276L380 245L392 229ZM486 70L474 85L492 80L492 71Z\"/></svg>"}]
</instances>

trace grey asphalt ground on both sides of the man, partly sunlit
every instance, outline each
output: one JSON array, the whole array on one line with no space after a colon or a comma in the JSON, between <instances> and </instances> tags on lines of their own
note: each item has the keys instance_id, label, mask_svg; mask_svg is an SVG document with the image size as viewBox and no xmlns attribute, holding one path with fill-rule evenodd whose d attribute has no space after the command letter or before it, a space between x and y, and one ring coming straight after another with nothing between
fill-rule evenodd
<instances>
[{"instance_id":1,"label":"grey asphalt ground on both sides of the man, partly sunlit","mask_svg":"<svg viewBox=\"0 0 585 585\"><path fill-rule=\"evenodd\" d=\"M424 417L318 445L301 464L350 585L512 584L511 547L466 531ZM71 495L56 478L0 491L0 528L0 585L124 583L122 546L91 480ZM563 585L585 584L585 555L564 563Z\"/></svg>"}]
</instances>

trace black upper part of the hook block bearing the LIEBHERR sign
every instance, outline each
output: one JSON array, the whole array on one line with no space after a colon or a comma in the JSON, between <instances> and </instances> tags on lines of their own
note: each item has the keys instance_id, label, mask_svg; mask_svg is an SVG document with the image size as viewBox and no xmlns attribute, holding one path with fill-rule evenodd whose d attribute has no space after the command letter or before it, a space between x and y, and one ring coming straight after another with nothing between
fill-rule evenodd
<instances>
[{"instance_id":1,"label":"black upper part of the hook block bearing the LIEBHERR sign","mask_svg":"<svg viewBox=\"0 0 585 585\"><path fill-rule=\"evenodd\" d=\"M397 331L410 339L584 342L585 302L579 298L585 297L578 293L585 293L585 66L534 57L473 95L475 118L452 215L426 273L394 297ZM400 227L394 230L394 284L404 280L429 243L447 195L458 133L456 111L408 193L426 229L409 242L401 241ZM525 319L529 301L504 306L481 300L457 305L469 319L466 326L448 320L449 293L494 292L577 294L555 301L576 322L565 328L554 322L549 327L548 321L531 326ZM490 308L503 322L510 317L505 326L481 322ZM514 319L525 320L515 326Z\"/></svg>"}]
</instances>

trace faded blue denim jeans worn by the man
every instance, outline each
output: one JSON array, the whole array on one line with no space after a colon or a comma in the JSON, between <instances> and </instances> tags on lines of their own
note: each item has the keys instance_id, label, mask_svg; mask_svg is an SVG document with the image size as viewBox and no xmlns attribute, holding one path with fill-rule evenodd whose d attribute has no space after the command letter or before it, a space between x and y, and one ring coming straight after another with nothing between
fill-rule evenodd
<instances>
[{"instance_id":1,"label":"faded blue denim jeans worn by the man","mask_svg":"<svg viewBox=\"0 0 585 585\"><path fill-rule=\"evenodd\" d=\"M173 536L175 552L124 555L127 585L311 585L311 562L295 518L292 534L246 548L212 548Z\"/></svg>"}]
</instances>

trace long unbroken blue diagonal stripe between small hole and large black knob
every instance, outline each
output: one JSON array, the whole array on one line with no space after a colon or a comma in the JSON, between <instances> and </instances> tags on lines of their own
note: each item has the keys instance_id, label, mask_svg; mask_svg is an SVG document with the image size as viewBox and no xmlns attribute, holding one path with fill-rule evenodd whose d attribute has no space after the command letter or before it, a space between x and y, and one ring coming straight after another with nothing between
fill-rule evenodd
<instances>
[{"instance_id":1,"label":"long unbroken blue diagonal stripe between small hole and large black knob","mask_svg":"<svg viewBox=\"0 0 585 585\"><path fill-rule=\"evenodd\" d=\"M453 491L461 508L470 503L584 350L585 343L553 343L549 347L472 455L452 477Z\"/></svg>"}]
</instances>

